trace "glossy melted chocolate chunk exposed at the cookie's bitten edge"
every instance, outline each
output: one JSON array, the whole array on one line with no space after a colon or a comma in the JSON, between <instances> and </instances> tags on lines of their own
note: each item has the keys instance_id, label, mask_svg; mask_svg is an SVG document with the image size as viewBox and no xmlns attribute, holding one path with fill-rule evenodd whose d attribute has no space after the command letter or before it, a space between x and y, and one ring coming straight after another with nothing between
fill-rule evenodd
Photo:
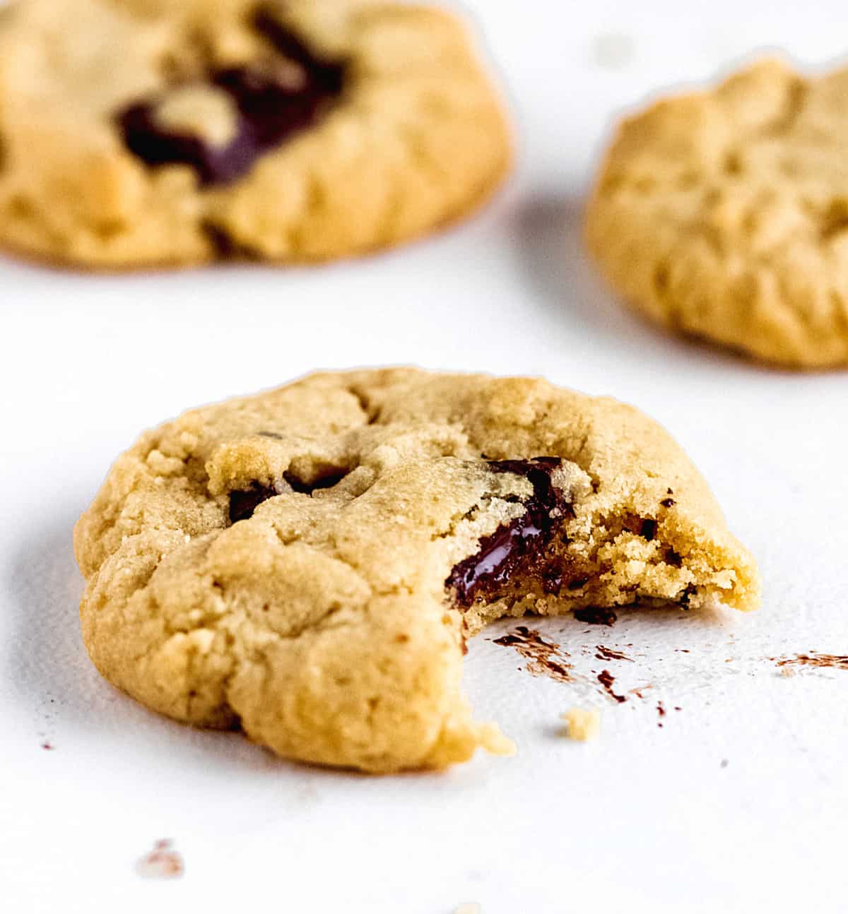
<instances>
[{"instance_id":1,"label":"glossy melted chocolate chunk exposed at the cookie's bitten edge","mask_svg":"<svg viewBox=\"0 0 848 914\"><path fill-rule=\"evenodd\" d=\"M559 522L571 513L571 505L557 489L551 476L561 464L559 457L532 460L487 461L493 473L515 473L529 480L533 494L524 503L527 510L509 524L502 524L488 537L480 539L473 556L463 559L445 580L445 587L456 594L456 602L469 607L481 595L494 597L519 569L528 569L542 558ZM542 572L546 592L562 586L552 569Z\"/></svg>"}]
</instances>

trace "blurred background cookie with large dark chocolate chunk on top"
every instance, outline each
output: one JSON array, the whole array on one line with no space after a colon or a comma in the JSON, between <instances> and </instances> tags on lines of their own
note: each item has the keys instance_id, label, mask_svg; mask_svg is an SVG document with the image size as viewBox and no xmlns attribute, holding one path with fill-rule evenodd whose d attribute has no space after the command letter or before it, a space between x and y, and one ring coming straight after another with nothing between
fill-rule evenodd
<instances>
[{"instance_id":1,"label":"blurred background cookie with large dark chocolate chunk on top","mask_svg":"<svg viewBox=\"0 0 848 914\"><path fill-rule=\"evenodd\" d=\"M510 138L435 9L17 0L0 151L0 244L122 269L392 247L478 207Z\"/></svg>"}]
</instances>

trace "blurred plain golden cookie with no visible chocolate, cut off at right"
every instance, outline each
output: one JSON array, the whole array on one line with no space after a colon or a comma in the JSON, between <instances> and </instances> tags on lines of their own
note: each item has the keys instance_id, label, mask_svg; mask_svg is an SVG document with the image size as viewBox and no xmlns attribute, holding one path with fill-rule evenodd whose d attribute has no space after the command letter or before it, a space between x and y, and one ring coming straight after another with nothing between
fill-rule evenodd
<instances>
[{"instance_id":1,"label":"blurred plain golden cookie with no visible chocolate, cut off at right","mask_svg":"<svg viewBox=\"0 0 848 914\"><path fill-rule=\"evenodd\" d=\"M848 69L777 60L625 121L588 247L672 330L790 368L848 364Z\"/></svg>"}]
</instances>

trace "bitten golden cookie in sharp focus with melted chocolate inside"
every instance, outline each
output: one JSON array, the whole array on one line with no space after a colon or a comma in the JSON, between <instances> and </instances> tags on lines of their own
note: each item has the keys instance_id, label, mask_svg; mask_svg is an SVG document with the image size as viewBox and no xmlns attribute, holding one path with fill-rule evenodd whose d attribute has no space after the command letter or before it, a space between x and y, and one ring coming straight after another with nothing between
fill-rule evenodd
<instances>
[{"instance_id":1,"label":"bitten golden cookie in sharp focus with melted chocolate inside","mask_svg":"<svg viewBox=\"0 0 848 914\"><path fill-rule=\"evenodd\" d=\"M657 424L543 380L318 374L193 409L81 517L83 639L113 685L291 759L443 768L487 622L585 606L751 610L754 561Z\"/></svg>"}]
</instances>

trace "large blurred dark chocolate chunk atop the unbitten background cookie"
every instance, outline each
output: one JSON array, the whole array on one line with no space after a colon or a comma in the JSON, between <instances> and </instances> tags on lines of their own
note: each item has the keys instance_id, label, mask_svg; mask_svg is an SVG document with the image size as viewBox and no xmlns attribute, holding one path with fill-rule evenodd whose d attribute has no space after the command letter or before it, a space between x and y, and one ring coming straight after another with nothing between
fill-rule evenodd
<instances>
[{"instance_id":1,"label":"large blurred dark chocolate chunk atop the unbitten background cookie","mask_svg":"<svg viewBox=\"0 0 848 914\"><path fill-rule=\"evenodd\" d=\"M230 184L260 155L316 122L328 102L338 100L343 64L315 57L267 13L258 14L253 24L284 58L303 70L303 79L281 80L261 67L210 72L208 84L226 92L238 112L236 135L223 146L163 129L156 121L156 100L138 101L117 115L123 142L132 153L147 165L191 165L203 186Z\"/></svg>"}]
</instances>

